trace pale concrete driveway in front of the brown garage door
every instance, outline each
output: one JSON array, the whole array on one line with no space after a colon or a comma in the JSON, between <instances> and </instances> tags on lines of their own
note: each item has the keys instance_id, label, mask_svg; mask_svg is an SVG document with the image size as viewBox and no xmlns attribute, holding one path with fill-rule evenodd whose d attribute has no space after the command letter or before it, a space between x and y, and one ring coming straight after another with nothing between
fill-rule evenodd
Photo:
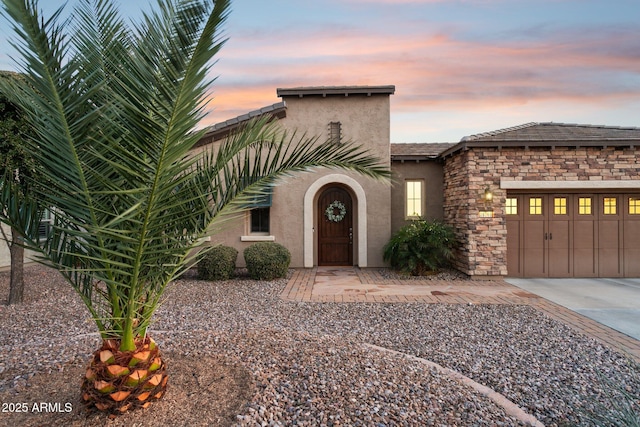
<instances>
[{"instance_id":1,"label":"pale concrete driveway in front of the brown garage door","mask_svg":"<svg viewBox=\"0 0 640 427\"><path fill-rule=\"evenodd\" d=\"M640 279L506 281L640 340Z\"/></svg>"}]
</instances>

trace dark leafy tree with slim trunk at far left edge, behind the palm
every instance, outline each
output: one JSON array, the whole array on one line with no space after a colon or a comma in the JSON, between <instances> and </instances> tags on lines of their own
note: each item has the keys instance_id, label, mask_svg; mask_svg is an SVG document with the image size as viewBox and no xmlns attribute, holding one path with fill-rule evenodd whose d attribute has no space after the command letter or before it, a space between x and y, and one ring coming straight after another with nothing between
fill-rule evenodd
<instances>
[{"instance_id":1,"label":"dark leafy tree with slim trunk at far left edge, behind the palm","mask_svg":"<svg viewBox=\"0 0 640 427\"><path fill-rule=\"evenodd\" d=\"M0 79L19 79L19 75L0 71ZM25 195L34 179L33 159L26 149L25 140L32 137L25 114L0 93L0 191L5 194L0 205L0 218L18 215L29 209L29 198ZM9 212L13 210L14 212ZM37 212L36 215L39 215ZM21 303L24 295L24 246L17 228L11 235L0 227L2 238L9 247L11 275L9 279L9 304Z\"/></svg>"}]
</instances>

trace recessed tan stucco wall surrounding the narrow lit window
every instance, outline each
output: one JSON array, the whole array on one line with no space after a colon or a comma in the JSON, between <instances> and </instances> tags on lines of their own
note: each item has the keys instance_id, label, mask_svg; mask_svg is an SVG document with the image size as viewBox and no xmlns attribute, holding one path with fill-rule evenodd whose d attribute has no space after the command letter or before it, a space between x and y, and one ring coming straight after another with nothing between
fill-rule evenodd
<instances>
[{"instance_id":1,"label":"recessed tan stucco wall surrounding the narrow lit window","mask_svg":"<svg viewBox=\"0 0 640 427\"><path fill-rule=\"evenodd\" d=\"M405 208L405 181L421 179L424 181L423 216L431 220L442 220L444 171L441 162L394 161L391 163L393 187L391 188L391 233L398 231L407 223Z\"/></svg>"}]
</instances>

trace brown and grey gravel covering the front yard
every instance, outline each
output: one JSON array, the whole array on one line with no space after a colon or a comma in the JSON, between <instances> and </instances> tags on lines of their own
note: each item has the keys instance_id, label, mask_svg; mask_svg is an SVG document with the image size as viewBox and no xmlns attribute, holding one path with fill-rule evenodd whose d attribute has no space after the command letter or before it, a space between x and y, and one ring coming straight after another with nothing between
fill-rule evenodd
<instances>
[{"instance_id":1,"label":"brown and grey gravel covering the front yard","mask_svg":"<svg viewBox=\"0 0 640 427\"><path fill-rule=\"evenodd\" d=\"M58 273L40 266L27 273L25 304L0 305L2 404L42 400L42 384L55 390L66 381L75 387L79 378L71 375L82 372L98 347L86 309ZM0 273L0 295L8 295L7 282L8 273ZM279 298L285 285L244 278L176 282L152 332L173 359L167 397L147 411L149 424L134 412L109 425L166 422L176 407L191 415L175 425L520 425L449 377L363 343L457 370L549 426L589 425L589 413L607 413L622 401L619 390L640 411L637 364L531 307L291 303ZM239 380L196 387L180 382L181 364L194 372L226 367L217 377ZM211 405L229 399L227 409L236 416L214 419L215 411L194 401L194 393L209 393ZM16 422L14 415L0 413L0 425L44 422L34 414ZM75 407L56 420L105 424Z\"/></svg>"}]
</instances>

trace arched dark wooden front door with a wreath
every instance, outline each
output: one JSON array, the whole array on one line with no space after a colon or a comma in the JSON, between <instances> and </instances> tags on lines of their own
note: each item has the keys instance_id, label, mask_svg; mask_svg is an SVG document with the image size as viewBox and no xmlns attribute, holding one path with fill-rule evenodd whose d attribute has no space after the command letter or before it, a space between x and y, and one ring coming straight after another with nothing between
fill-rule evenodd
<instances>
[{"instance_id":1,"label":"arched dark wooden front door with a wreath","mask_svg":"<svg viewBox=\"0 0 640 427\"><path fill-rule=\"evenodd\" d=\"M342 187L318 199L318 265L353 265L353 203Z\"/></svg>"}]
</instances>

